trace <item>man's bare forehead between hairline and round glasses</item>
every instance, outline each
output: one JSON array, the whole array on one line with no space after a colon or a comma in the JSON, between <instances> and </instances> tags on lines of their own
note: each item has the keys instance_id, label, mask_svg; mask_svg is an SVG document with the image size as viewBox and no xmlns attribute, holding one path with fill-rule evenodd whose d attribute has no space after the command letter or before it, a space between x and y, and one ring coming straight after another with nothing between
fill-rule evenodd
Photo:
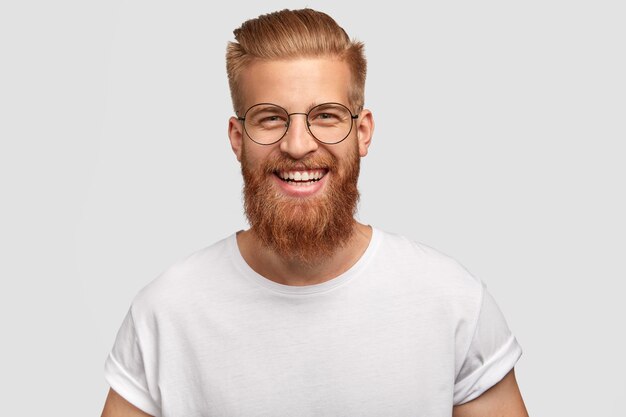
<instances>
[{"instance_id":1,"label":"man's bare forehead between hairline and round glasses","mask_svg":"<svg viewBox=\"0 0 626 417\"><path fill-rule=\"evenodd\" d=\"M255 60L240 75L245 111L257 103L274 103L289 111L304 111L313 104L348 105L350 68L334 58Z\"/></svg>"}]
</instances>

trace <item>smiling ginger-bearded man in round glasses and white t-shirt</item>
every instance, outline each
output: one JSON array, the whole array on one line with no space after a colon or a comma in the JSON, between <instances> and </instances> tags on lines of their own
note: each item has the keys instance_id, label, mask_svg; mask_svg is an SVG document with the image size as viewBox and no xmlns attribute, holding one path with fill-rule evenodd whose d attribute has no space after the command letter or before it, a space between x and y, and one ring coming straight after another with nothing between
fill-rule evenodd
<instances>
[{"instance_id":1,"label":"smiling ginger-bearded man in round glasses and white t-shirt","mask_svg":"<svg viewBox=\"0 0 626 417\"><path fill-rule=\"evenodd\" d=\"M310 9L235 30L228 124L250 229L133 301L103 416L527 416L480 281L358 223L363 45Z\"/></svg>"}]
</instances>

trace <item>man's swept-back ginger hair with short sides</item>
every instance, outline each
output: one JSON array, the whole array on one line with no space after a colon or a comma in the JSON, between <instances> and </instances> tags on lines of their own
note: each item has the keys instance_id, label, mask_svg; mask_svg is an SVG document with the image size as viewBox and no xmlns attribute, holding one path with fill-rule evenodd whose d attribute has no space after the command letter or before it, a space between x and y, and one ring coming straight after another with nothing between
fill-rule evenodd
<instances>
[{"instance_id":1,"label":"man's swept-back ginger hair with short sides","mask_svg":"<svg viewBox=\"0 0 626 417\"><path fill-rule=\"evenodd\" d=\"M363 43L348 34L326 13L313 9L281 10L245 21L233 31L236 42L226 51L226 72L235 111L242 112L241 71L254 60L338 58L352 75L349 100L358 113L365 101L367 64Z\"/></svg>"}]
</instances>

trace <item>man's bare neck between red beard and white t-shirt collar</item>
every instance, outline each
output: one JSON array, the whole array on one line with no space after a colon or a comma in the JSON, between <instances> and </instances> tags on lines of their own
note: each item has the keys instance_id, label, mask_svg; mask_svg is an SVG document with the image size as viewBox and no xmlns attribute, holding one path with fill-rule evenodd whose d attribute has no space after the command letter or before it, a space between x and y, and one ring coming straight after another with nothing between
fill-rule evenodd
<instances>
[{"instance_id":1,"label":"man's bare neck between red beard and white t-shirt collar","mask_svg":"<svg viewBox=\"0 0 626 417\"><path fill-rule=\"evenodd\" d=\"M264 246L254 230L237 234L237 244L244 260L258 274L283 285L314 285L329 281L350 269L363 255L372 237L372 229L354 222L348 242L330 257L303 262L280 256Z\"/></svg>"}]
</instances>

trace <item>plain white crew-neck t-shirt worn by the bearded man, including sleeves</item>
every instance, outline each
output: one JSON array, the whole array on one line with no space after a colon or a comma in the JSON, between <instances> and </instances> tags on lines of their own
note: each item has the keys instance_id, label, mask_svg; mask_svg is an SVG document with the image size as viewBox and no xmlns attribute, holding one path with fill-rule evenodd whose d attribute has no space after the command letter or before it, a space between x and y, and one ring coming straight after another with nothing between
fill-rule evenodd
<instances>
[{"instance_id":1,"label":"plain white crew-neck t-shirt worn by the bearded man, including sleeves","mask_svg":"<svg viewBox=\"0 0 626 417\"><path fill-rule=\"evenodd\" d=\"M105 362L163 417L449 417L521 348L484 285L432 248L374 229L322 284L252 270L233 234L143 288Z\"/></svg>"}]
</instances>

